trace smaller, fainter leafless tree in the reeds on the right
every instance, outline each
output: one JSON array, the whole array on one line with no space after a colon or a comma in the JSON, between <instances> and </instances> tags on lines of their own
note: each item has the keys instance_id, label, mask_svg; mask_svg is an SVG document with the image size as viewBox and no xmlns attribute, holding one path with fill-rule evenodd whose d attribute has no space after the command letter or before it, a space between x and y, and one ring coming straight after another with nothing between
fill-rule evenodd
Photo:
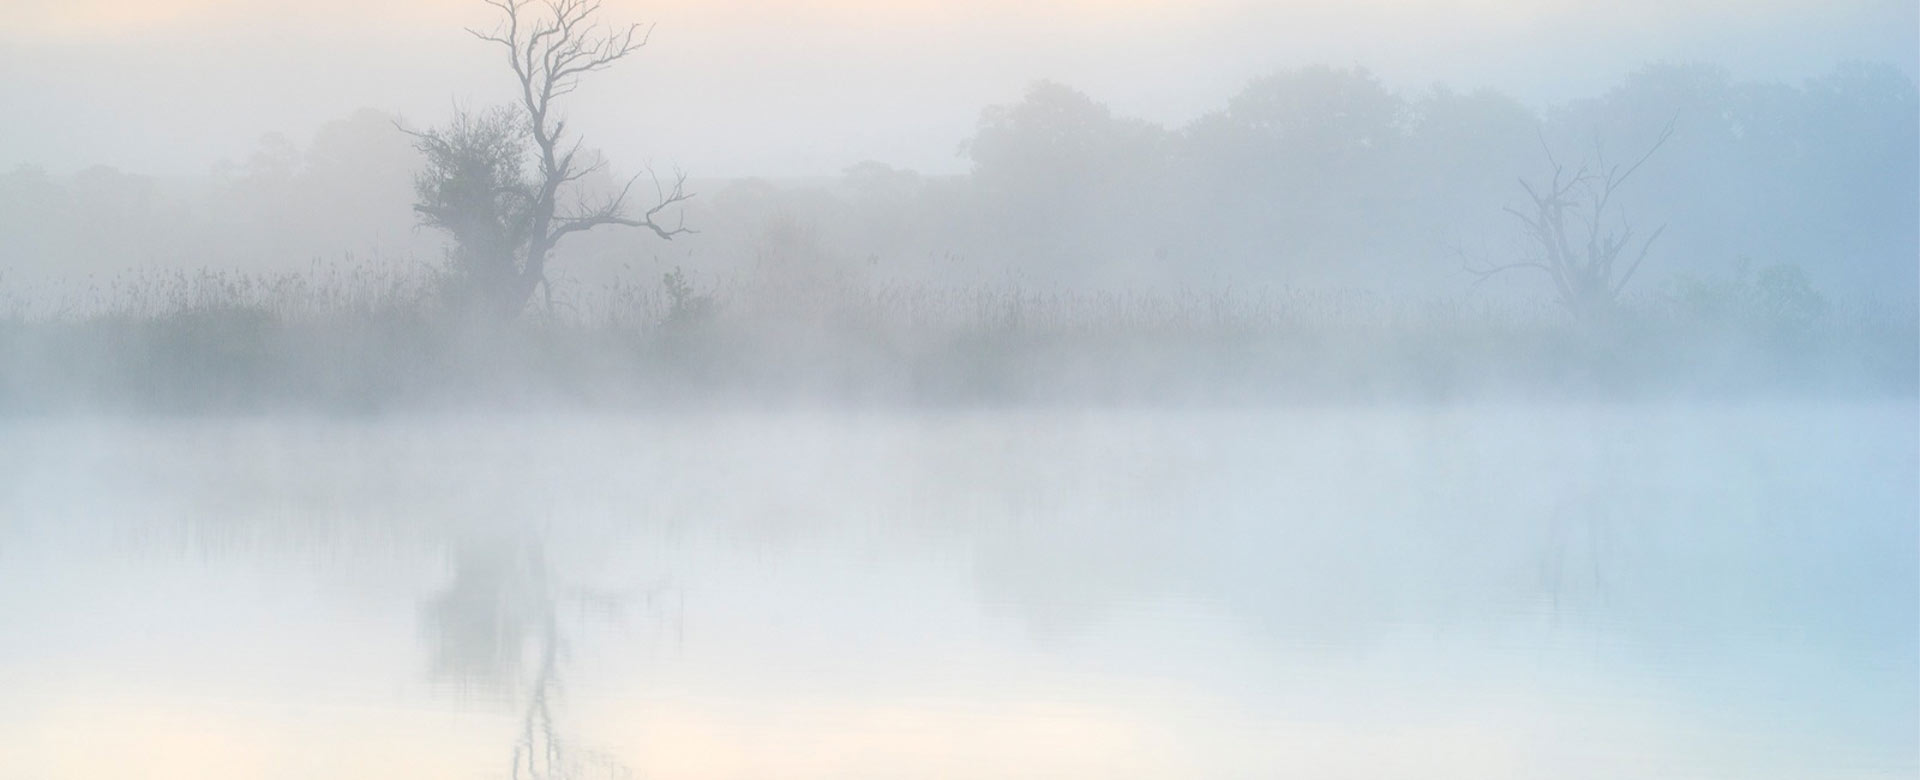
<instances>
[{"instance_id":1,"label":"smaller, fainter leafless tree in the reeds on the right","mask_svg":"<svg viewBox=\"0 0 1920 780\"><path fill-rule=\"evenodd\" d=\"M1661 238L1667 225L1653 229L1638 240L1634 227L1619 213L1613 196L1653 158L1674 134L1668 121L1647 150L1628 165L1609 165L1605 150L1596 144L1594 159L1574 171L1567 171L1540 140L1548 163L1553 167L1551 179L1542 184L1521 179L1528 206L1505 211L1521 221L1526 238L1526 256L1503 265L1467 265L1467 271L1486 280L1494 275L1517 269L1542 271L1553 280L1553 292L1561 305L1582 321L1596 321L1613 311L1620 290L1640 271L1653 242ZM1622 265L1620 259L1630 259Z\"/></svg>"}]
</instances>

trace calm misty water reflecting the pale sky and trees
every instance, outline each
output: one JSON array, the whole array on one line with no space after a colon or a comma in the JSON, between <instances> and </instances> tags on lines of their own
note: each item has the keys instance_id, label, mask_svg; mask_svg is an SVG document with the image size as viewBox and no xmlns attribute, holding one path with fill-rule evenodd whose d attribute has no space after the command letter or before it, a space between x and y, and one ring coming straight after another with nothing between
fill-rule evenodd
<instances>
[{"instance_id":1,"label":"calm misty water reflecting the pale sky and trees","mask_svg":"<svg viewBox=\"0 0 1920 780\"><path fill-rule=\"evenodd\" d=\"M0 425L6 778L1914 778L1910 403Z\"/></svg>"}]
</instances>

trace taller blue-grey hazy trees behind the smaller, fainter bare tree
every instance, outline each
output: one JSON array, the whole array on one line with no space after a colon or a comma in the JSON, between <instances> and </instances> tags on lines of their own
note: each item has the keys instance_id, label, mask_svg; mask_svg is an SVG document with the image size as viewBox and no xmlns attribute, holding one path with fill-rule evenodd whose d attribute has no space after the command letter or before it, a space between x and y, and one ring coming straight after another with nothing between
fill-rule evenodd
<instances>
[{"instance_id":1,"label":"taller blue-grey hazy trees behind the smaller, fainter bare tree","mask_svg":"<svg viewBox=\"0 0 1920 780\"><path fill-rule=\"evenodd\" d=\"M1503 207L1532 206L1519 181L1544 179L1548 156L1632 161L1670 129L1611 204L1649 231L1670 225L1649 263L1747 257L1910 292L1916 117L1914 85L1884 65L1801 86L1649 65L1546 111L1492 90L1396 92L1365 69L1306 67L1256 79L1177 129L1041 83L983 111L966 142L977 229L962 232L979 252L1071 275L1427 286L1459 279L1450 248L1488 263L1524 252ZM856 173L851 188L872 186L872 171Z\"/></svg>"}]
</instances>

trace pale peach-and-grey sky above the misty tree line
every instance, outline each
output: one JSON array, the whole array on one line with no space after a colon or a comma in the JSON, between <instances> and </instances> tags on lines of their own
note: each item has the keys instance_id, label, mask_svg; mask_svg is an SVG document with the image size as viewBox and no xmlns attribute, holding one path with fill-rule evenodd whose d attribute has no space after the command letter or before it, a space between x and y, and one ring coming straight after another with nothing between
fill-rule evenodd
<instances>
[{"instance_id":1,"label":"pale peach-and-grey sky above the misty tree line","mask_svg":"<svg viewBox=\"0 0 1920 780\"><path fill-rule=\"evenodd\" d=\"M1841 60L1916 71L1912 0L607 0L657 23L599 73L572 127L624 165L829 175L860 159L958 171L979 110L1035 79L1181 123L1246 79L1367 65L1394 86L1530 102L1634 65L1707 60L1799 81ZM436 123L503 100L461 29L480 0L0 0L0 169L202 173L265 133L296 144L359 108Z\"/></svg>"}]
</instances>

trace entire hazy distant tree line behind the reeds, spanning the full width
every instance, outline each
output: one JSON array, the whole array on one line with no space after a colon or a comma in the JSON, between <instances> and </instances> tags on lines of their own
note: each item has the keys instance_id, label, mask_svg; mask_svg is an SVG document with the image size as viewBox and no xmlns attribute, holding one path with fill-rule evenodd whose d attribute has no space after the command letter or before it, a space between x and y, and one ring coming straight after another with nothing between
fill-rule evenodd
<instances>
[{"instance_id":1,"label":"entire hazy distant tree line behind the reeds, spanning the full width","mask_svg":"<svg viewBox=\"0 0 1920 780\"><path fill-rule=\"evenodd\" d=\"M1548 154L1630 159L1672 125L1613 204L1644 225L1636 238L1667 225L1636 286L1789 265L1820 290L1912 307L1916 123L1914 83L1872 63L1801 85L1657 63L1549 108L1302 67L1254 79L1181 127L1039 83L981 113L958 146L964 175L870 161L806 183L699 183L685 223L701 234L582 232L557 267L651 280L684 265L695 280L762 271L1461 292L1476 280L1469 261L1524 256L1505 207L1528 206L1519 181L1544 179ZM263 142L202 181L15 169L0 173L0 256L13 273L288 267L342 252L438 265L436 236L413 229L419 169L411 138L372 111L328 125L307 150ZM595 171L576 184L605 204L622 181ZM1500 284L1551 294L1540 280Z\"/></svg>"}]
</instances>

